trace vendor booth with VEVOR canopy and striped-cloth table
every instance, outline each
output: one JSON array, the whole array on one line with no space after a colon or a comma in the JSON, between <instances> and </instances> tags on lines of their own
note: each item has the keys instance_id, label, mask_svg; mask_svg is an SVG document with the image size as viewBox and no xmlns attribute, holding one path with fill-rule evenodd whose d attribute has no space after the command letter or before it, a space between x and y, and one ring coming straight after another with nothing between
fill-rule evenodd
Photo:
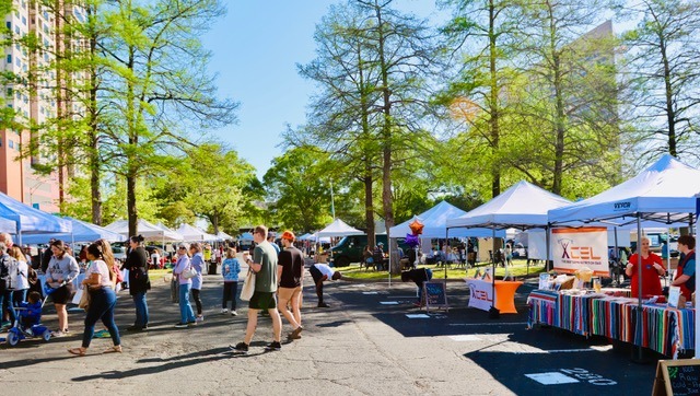
<instances>
[{"instance_id":1,"label":"vendor booth with VEVOR canopy and striped-cloth table","mask_svg":"<svg viewBox=\"0 0 700 396\"><path fill-rule=\"evenodd\" d=\"M633 178L588 199L549 211L553 226L581 224L637 225L641 246L642 224L690 225L697 219L700 171L670 155ZM641 255L640 257L641 261ZM637 263L641 266L641 263ZM640 290L642 276L638 277ZM641 294L641 293L640 293ZM604 335L676 357L693 349L698 335L695 307L668 307L654 299L610 298L579 291L541 291L530 294L530 321L547 323L583 335ZM642 360L642 349L635 359ZM696 358L698 350L696 349Z\"/></svg>"}]
</instances>

